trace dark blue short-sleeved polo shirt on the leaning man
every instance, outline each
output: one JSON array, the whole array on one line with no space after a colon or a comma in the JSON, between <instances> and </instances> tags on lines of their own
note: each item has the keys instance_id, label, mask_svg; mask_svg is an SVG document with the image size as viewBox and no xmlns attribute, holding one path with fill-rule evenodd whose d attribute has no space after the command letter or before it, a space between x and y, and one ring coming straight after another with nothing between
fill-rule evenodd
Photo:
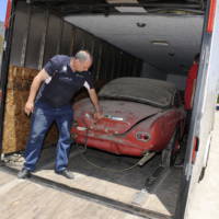
<instances>
[{"instance_id":1,"label":"dark blue short-sleeved polo shirt on the leaning man","mask_svg":"<svg viewBox=\"0 0 219 219\"><path fill-rule=\"evenodd\" d=\"M70 57L65 55L54 56L45 66L49 78L39 90L37 101L46 102L51 107L61 107L70 104L72 96L82 87L93 89L90 71L72 71Z\"/></svg>"}]
</instances>

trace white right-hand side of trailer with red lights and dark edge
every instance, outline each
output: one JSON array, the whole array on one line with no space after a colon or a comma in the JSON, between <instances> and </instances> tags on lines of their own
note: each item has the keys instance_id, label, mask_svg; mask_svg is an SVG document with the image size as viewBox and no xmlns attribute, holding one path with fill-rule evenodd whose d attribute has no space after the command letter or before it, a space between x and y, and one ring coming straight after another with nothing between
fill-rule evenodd
<instances>
[{"instance_id":1,"label":"white right-hand side of trailer with red lights and dark edge","mask_svg":"<svg viewBox=\"0 0 219 219\"><path fill-rule=\"evenodd\" d=\"M176 219L187 218L195 185L207 166L214 129L217 88L217 55L219 54L219 1L208 1L200 50L200 61L194 108L186 146L181 192L175 211Z\"/></svg>"}]
</instances>

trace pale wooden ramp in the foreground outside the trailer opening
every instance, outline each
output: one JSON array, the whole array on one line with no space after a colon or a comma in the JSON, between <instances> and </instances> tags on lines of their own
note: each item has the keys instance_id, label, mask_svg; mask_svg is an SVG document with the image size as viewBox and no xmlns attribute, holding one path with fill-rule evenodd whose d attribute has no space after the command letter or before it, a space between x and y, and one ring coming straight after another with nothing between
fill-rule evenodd
<instances>
[{"instance_id":1,"label":"pale wooden ramp in the foreground outside the trailer opening","mask_svg":"<svg viewBox=\"0 0 219 219\"><path fill-rule=\"evenodd\" d=\"M64 192L16 178L0 168L1 219L141 219Z\"/></svg>"}]
</instances>

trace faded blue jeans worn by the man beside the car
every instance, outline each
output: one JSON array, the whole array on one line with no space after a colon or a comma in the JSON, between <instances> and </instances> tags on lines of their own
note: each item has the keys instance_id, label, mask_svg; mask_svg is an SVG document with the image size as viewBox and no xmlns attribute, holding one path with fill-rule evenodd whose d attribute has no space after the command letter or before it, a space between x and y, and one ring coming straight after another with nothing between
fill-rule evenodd
<instances>
[{"instance_id":1,"label":"faded blue jeans worn by the man beside the car","mask_svg":"<svg viewBox=\"0 0 219 219\"><path fill-rule=\"evenodd\" d=\"M70 128L72 119L73 111L70 105L59 108L53 108L46 103L37 103L35 105L25 151L24 168L26 170L35 170L45 135L54 122L57 123L59 130L55 169L57 172L60 172L67 168L71 145Z\"/></svg>"}]
</instances>

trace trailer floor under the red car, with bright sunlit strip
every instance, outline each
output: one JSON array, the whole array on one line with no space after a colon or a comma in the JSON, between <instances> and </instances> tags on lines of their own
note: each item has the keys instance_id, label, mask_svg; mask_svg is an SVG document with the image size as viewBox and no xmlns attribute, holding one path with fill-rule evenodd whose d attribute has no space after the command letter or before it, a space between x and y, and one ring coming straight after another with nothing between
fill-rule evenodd
<instances>
[{"instance_id":1,"label":"trailer floor under the red car, with bright sunlit strip","mask_svg":"<svg viewBox=\"0 0 219 219\"><path fill-rule=\"evenodd\" d=\"M114 172L134 165L138 158L119 157L95 149L88 149L81 155L76 146L72 147L69 169L74 173L74 180L67 180L54 173L55 147L43 151L37 170L34 175L57 182L73 189L95 194L99 197L132 205L165 216L172 216L175 211L177 192L181 178L181 169L170 169L164 172L149 188L142 191L146 178L159 166L160 155L155 155L143 166L136 166L124 172ZM102 166L93 166L92 163ZM20 169L21 166L12 166ZM113 218L113 217L111 217ZM115 217L116 218L116 217Z\"/></svg>"}]
</instances>

